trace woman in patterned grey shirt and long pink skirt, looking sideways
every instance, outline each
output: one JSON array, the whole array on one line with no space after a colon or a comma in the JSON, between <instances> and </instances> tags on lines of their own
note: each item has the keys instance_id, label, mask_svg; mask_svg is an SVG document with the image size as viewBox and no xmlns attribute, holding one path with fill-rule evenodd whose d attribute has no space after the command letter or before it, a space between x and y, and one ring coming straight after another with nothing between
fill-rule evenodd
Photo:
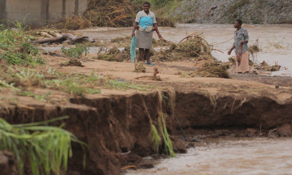
<instances>
[{"instance_id":1,"label":"woman in patterned grey shirt and long pink skirt, looking sideways","mask_svg":"<svg viewBox=\"0 0 292 175\"><path fill-rule=\"evenodd\" d=\"M249 72L248 64L248 47L247 43L249 40L247 30L241 28L241 19L236 19L234 21L234 43L232 48L228 51L228 55L231 54L232 50L235 48L235 61L237 73Z\"/></svg>"}]
</instances>

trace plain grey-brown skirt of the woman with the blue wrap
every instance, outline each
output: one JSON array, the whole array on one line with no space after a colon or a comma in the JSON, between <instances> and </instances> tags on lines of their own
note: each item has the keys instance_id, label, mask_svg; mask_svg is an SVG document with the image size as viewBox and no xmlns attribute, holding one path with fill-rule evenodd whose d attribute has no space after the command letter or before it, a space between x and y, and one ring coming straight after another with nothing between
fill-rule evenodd
<instances>
[{"instance_id":1,"label":"plain grey-brown skirt of the woman with the blue wrap","mask_svg":"<svg viewBox=\"0 0 292 175\"><path fill-rule=\"evenodd\" d=\"M151 49L152 48L152 35L153 32L143 32L137 30L136 32L136 47L143 49Z\"/></svg>"}]
</instances>

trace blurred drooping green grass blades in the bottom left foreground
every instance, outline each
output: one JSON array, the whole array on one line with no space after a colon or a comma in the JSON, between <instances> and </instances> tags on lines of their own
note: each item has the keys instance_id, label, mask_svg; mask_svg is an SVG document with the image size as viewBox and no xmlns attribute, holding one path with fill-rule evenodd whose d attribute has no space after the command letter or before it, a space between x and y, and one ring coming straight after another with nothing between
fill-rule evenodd
<instances>
[{"instance_id":1,"label":"blurred drooping green grass blades in the bottom left foreground","mask_svg":"<svg viewBox=\"0 0 292 175\"><path fill-rule=\"evenodd\" d=\"M23 174L28 158L34 175L59 175L61 169L66 171L68 158L72 156L71 141L80 143L82 148L87 146L62 129L64 125L45 126L48 122L66 118L68 116L18 125L10 125L0 118L0 150L8 150L16 155L20 174Z\"/></svg>"}]
</instances>

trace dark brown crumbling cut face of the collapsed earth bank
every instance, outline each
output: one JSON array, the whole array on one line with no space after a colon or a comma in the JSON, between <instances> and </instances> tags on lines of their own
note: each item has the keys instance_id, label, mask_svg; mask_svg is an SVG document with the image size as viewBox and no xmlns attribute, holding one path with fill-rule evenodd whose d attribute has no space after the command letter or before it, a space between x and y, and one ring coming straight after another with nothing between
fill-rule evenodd
<instances>
[{"instance_id":1,"label":"dark brown crumbling cut face of the collapsed earth bank","mask_svg":"<svg viewBox=\"0 0 292 175\"><path fill-rule=\"evenodd\" d=\"M69 119L52 125L64 122L66 130L88 144L86 168L82 166L83 151L76 143L72 143L73 157L68 167L68 174L86 175L118 175L123 173L120 169L123 166L141 167L142 157L155 154L151 125L158 127L161 115L166 119L176 153L185 153L186 148L174 115L188 136L200 134L199 130L224 129L230 130L230 134L239 133L235 136L245 136L239 131L247 128L267 135L270 129L292 122L291 88L272 89L267 85L259 89L251 82L245 86L253 88L245 89L244 85L231 87L223 83L190 82L173 86L176 91L171 88L151 93L113 91L107 93L111 95L71 98L65 104L18 96L17 102L2 103L5 105L1 105L0 115L11 124L69 115ZM11 95L2 93L1 97L13 99ZM165 152L160 149L160 153Z\"/></svg>"}]
</instances>

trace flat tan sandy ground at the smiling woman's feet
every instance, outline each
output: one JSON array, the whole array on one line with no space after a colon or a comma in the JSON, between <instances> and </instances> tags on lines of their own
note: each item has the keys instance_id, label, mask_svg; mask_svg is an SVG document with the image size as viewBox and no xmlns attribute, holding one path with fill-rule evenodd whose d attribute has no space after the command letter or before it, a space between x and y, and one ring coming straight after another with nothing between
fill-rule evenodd
<instances>
[{"instance_id":1,"label":"flat tan sandy ground at the smiling woman's feet","mask_svg":"<svg viewBox=\"0 0 292 175\"><path fill-rule=\"evenodd\" d=\"M129 62L109 62L102 60L86 60L82 59L81 63L84 67L77 66L60 66L60 62L68 61L69 58L52 57L44 55L44 58L48 61L45 67L52 66L56 68L59 72L64 73L84 73L89 75L93 70L96 74L100 73L103 76L109 76L113 79L119 81L134 82L137 84L148 84L148 85L158 85L158 86L170 86L176 91L181 92L192 92L198 89L203 89L209 91L211 94L217 92L228 92L228 94L238 93L238 89L234 87L240 87L246 91L252 93L259 93L260 89L268 89L271 93L275 94L280 101L285 101L292 97L291 93L291 77L283 76L265 76L256 75L254 73L249 74L231 74L232 79L225 78L204 78L204 77L194 77L175 75L178 72L186 73L196 70L199 66L198 63L191 62L159 62L155 66L145 65L146 73L137 73L134 71L134 64ZM135 79L141 76L152 76L154 68L158 68L162 81L153 81L147 79ZM43 67L40 67L43 68ZM209 85L206 85L209 84ZM280 86L280 88L275 88L275 85ZM252 90L253 89L253 90ZM283 90L283 93L280 91ZM119 91L116 90L106 90L104 94L116 94ZM90 94L89 96L92 96Z\"/></svg>"}]
</instances>

